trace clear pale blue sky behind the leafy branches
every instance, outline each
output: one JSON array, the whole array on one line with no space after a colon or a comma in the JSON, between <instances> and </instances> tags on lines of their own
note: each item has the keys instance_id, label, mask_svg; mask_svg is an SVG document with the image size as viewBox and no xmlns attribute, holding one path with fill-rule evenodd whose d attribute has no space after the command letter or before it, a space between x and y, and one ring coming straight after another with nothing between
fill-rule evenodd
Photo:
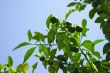
<instances>
[{"instance_id":1,"label":"clear pale blue sky behind the leafy branches","mask_svg":"<svg viewBox=\"0 0 110 73\"><path fill-rule=\"evenodd\" d=\"M14 52L12 52L12 49L19 43L28 41L28 29L32 32L40 31L45 33L45 20L48 15L53 14L60 19L64 18L64 15L70 9L66 5L71 1L73 0L0 0L0 63L7 63L8 55L13 57L14 67L22 63L23 56L29 47L21 48ZM87 6L85 11L73 13L68 20L72 23L81 24L82 19L88 19L90 31L85 39L91 39L92 41L103 39L104 35L100 30L99 24L94 23L95 18L90 20L88 17L90 9L91 6ZM96 49L101 51L104 43L98 44ZM28 60L30 64L36 61L39 62L34 57ZM41 63L38 65L36 72L48 73Z\"/></svg>"}]
</instances>

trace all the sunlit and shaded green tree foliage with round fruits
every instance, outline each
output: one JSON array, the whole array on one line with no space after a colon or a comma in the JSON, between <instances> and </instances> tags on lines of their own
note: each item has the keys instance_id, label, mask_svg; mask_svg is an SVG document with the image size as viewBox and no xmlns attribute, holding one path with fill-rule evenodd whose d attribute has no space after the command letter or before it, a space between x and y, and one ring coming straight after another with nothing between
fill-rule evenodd
<instances>
[{"instance_id":1,"label":"all the sunlit and shaded green tree foliage with round fruits","mask_svg":"<svg viewBox=\"0 0 110 73\"><path fill-rule=\"evenodd\" d=\"M82 19L82 26L72 24L67 21L67 18L76 11L82 11L85 7L91 4L93 7L89 11L89 18L93 19L95 14L98 17L95 23L99 23L100 27L108 40L103 46L103 54L105 59L100 55L99 51L95 50L95 45L104 41L104 39L97 39L95 41L83 40L87 35L87 20ZM12 57L8 57L8 64L0 64L0 72L4 73L27 73L29 69L26 61L32 56L35 50L39 53L35 57L39 58L45 69L49 73L58 73L62 70L63 73L109 73L110 71L110 1L109 0L80 0L77 2L70 2L67 7L71 9L65 14L64 19L57 18L52 14L46 20L47 34L41 32L34 32L28 30L29 42L23 42L16 46L13 50L21 47L31 45L23 60L23 64L19 64L17 68L13 68ZM73 8L72 8L73 7ZM31 40L35 42L30 43ZM83 41L82 41L83 40ZM38 49L37 49L38 48ZM58 53L58 52L61 53ZM32 66L32 73L37 68L38 62Z\"/></svg>"}]
</instances>

